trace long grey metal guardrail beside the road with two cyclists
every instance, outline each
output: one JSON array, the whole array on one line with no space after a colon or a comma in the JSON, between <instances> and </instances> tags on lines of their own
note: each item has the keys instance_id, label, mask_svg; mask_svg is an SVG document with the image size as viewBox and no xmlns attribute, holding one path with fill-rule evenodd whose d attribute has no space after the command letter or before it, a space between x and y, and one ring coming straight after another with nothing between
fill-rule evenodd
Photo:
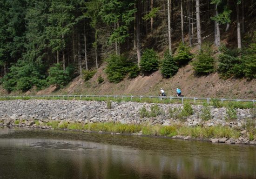
<instances>
[{"instance_id":1,"label":"long grey metal guardrail beside the road with two cyclists","mask_svg":"<svg viewBox=\"0 0 256 179\"><path fill-rule=\"evenodd\" d=\"M159 100L161 99L181 99L182 100L182 104L183 104L183 101L184 99L191 99L191 100L194 100L194 102L196 102L196 100L206 100L207 103L209 104L209 101L212 100L212 98L197 98L197 97L177 97L177 96L133 96L133 95L26 95L26 96L0 96L0 98L26 98L26 97L29 97L29 98L49 98L49 97L58 97L58 98L65 98L65 97L68 97L68 98L71 98L71 97L79 97L80 99L82 99L82 97L96 97L96 98L101 98L101 97L105 97L105 98L130 98L131 101L133 100L133 98L139 98L139 99L142 99L142 98L148 98L148 99L154 99L154 98L158 98ZM242 102L252 102L253 104L255 104L255 99L226 99L226 98L221 98L221 99L215 99L215 100L220 100L222 103L224 101L236 101L236 102L239 102L239 101L242 101Z\"/></svg>"}]
</instances>

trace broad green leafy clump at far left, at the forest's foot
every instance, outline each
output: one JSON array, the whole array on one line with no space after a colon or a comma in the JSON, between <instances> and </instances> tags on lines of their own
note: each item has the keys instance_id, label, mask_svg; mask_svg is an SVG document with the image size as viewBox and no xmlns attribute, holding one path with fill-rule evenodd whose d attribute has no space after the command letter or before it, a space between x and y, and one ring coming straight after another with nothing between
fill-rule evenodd
<instances>
[{"instance_id":1,"label":"broad green leafy clump at far left, at the forest's foot","mask_svg":"<svg viewBox=\"0 0 256 179\"><path fill-rule=\"evenodd\" d=\"M44 66L19 60L10 67L10 72L2 79L3 88L7 91L29 90L32 86L41 89L46 85Z\"/></svg>"}]
</instances>

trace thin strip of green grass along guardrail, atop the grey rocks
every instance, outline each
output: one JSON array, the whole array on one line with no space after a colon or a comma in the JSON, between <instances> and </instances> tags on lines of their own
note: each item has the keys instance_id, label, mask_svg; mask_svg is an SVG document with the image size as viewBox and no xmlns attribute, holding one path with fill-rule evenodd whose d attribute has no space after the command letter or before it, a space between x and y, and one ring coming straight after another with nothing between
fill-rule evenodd
<instances>
[{"instance_id":1,"label":"thin strip of green grass along guardrail, atop the grey rocks","mask_svg":"<svg viewBox=\"0 0 256 179\"><path fill-rule=\"evenodd\" d=\"M80 97L80 96L65 96L65 97L51 97L51 96L45 96L45 97L29 97L29 96L22 96L22 97L12 97L12 96L6 96L6 97L0 97L0 100L15 100L15 99L64 99L64 100L85 100L85 101L115 101L115 102L122 102L122 101L133 101L133 102L145 102L145 103L158 103L158 104L181 104L181 100L177 99L163 99L160 100L159 98L140 98L140 97ZM206 103L206 100L196 100L194 99L184 99L183 102L189 102L193 105L202 105ZM209 105L215 106L215 107L234 107L239 109L248 109L248 108L254 108L255 105L252 102L243 102L243 101L223 101L223 103L217 99L212 99L209 101Z\"/></svg>"}]
</instances>

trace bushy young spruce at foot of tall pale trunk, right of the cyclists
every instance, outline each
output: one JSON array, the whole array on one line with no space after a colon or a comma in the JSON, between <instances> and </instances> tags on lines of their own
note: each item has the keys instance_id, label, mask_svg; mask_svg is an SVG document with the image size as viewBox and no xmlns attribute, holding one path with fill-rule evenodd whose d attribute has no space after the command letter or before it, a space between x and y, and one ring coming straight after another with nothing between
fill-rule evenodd
<instances>
[{"instance_id":1,"label":"bushy young spruce at foot of tall pale trunk, right of the cyclists","mask_svg":"<svg viewBox=\"0 0 256 179\"><path fill-rule=\"evenodd\" d=\"M215 72L215 59L210 44L205 44L195 57L192 63L197 74L209 74Z\"/></svg>"}]
</instances>

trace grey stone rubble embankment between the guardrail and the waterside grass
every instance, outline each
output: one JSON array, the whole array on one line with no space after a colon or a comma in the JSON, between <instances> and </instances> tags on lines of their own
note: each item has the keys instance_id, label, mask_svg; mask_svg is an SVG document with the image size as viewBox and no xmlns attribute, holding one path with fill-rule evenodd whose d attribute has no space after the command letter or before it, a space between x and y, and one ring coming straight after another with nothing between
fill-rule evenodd
<instances>
[{"instance_id":1,"label":"grey stone rubble embankment between the guardrail and the waterside grass","mask_svg":"<svg viewBox=\"0 0 256 179\"><path fill-rule=\"evenodd\" d=\"M95 122L120 122L122 124L161 124L170 126L178 123L185 126L229 126L240 128L239 139L210 139L212 142L249 143L247 131L243 128L247 119L252 118L250 109L236 109L237 118L228 119L226 108L210 108L210 120L202 120L203 106L192 106L194 114L183 122L170 116L170 109L182 108L180 104L157 104L162 114L157 117L141 118L140 109L145 106L147 110L155 104L137 102L112 102L111 109L106 101L81 100L7 100L0 101L0 126L40 127L49 128L46 123L52 120L79 122L83 124ZM189 139L189 136L175 136Z\"/></svg>"}]
</instances>

